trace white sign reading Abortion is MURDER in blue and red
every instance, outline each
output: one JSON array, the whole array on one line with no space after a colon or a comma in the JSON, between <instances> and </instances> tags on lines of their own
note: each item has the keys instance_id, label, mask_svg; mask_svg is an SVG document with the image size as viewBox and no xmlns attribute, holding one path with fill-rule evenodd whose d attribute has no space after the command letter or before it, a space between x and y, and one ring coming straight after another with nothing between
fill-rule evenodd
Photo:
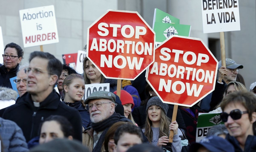
<instances>
[{"instance_id":1,"label":"white sign reading Abortion is MURDER in blue and red","mask_svg":"<svg viewBox=\"0 0 256 152\"><path fill-rule=\"evenodd\" d=\"M24 47L59 42L54 5L20 10Z\"/></svg>"}]
</instances>

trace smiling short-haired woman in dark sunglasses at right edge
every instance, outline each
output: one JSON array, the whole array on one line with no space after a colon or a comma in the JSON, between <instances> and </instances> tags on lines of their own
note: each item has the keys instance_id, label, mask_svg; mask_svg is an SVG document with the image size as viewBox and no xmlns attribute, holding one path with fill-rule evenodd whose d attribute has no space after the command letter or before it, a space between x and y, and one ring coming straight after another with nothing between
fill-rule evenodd
<instances>
[{"instance_id":1,"label":"smiling short-haired woman in dark sunglasses at right edge","mask_svg":"<svg viewBox=\"0 0 256 152\"><path fill-rule=\"evenodd\" d=\"M233 92L221 102L221 119L229 134L226 139L236 152L256 151L256 96L251 92Z\"/></svg>"}]
</instances>

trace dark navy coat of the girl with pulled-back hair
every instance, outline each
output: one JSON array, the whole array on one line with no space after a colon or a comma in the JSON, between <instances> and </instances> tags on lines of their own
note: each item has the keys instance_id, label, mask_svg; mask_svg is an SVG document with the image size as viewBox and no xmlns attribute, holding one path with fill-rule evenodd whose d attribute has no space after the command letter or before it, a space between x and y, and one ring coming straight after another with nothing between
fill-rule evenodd
<instances>
[{"instance_id":1,"label":"dark navy coat of the girl with pulled-back hair","mask_svg":"<svg viewBox=\"0 0 256 152\"><path fill-rule=\"evenodd\" d=\"M87 128L88 125L91 123L90 113L88 110L86 110L83 107L82 103L80 101L75 103L70 103L70 102L63 102L63 103L79 111L80 116L82 118L82 126L84 127L84 129Z\"/></svg>"}]
</instances>

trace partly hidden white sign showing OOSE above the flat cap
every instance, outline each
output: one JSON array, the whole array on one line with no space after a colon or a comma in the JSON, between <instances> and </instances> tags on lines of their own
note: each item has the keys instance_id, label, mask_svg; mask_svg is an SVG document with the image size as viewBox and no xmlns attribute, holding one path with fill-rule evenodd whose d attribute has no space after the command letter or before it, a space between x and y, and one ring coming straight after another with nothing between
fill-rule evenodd
<instances>
[{"instance_id":1,"label":"partly hidden white sign showing OOSE above the flat cap","mask_svg":"<svg viewBox=\"0 0 256 152\"><path fill-rule=\"evenodd\" d=\"M89 95L95 91L109 91L109 83L100 84L89 84L85 85L83 100L85 100Z\"/></svg>"}]
</instances>

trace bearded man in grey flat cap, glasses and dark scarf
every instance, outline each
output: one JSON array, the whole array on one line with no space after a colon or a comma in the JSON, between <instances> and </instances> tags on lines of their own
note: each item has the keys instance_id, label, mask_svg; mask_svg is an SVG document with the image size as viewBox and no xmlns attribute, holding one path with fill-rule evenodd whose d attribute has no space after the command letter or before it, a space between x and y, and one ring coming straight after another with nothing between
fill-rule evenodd
<instances>
[{"instance_id":1,"label":"bearded man in grey flat cap, glasses and dark scarf","mask_svg":"<svg viewBox=\"0 0 256 152\"><path fill-rule=\"evenodd\" d=\"M91 118L91 126L83 133L83 145L90 151L104 150L102 143L110 126L119 121L131 122L125 116L115 112L116 96L112 92L93 92L84 101ZM103 149L101 149L103 148ZM104 150L105 151L105 150Z\"/></svg>"}]
</instances>

